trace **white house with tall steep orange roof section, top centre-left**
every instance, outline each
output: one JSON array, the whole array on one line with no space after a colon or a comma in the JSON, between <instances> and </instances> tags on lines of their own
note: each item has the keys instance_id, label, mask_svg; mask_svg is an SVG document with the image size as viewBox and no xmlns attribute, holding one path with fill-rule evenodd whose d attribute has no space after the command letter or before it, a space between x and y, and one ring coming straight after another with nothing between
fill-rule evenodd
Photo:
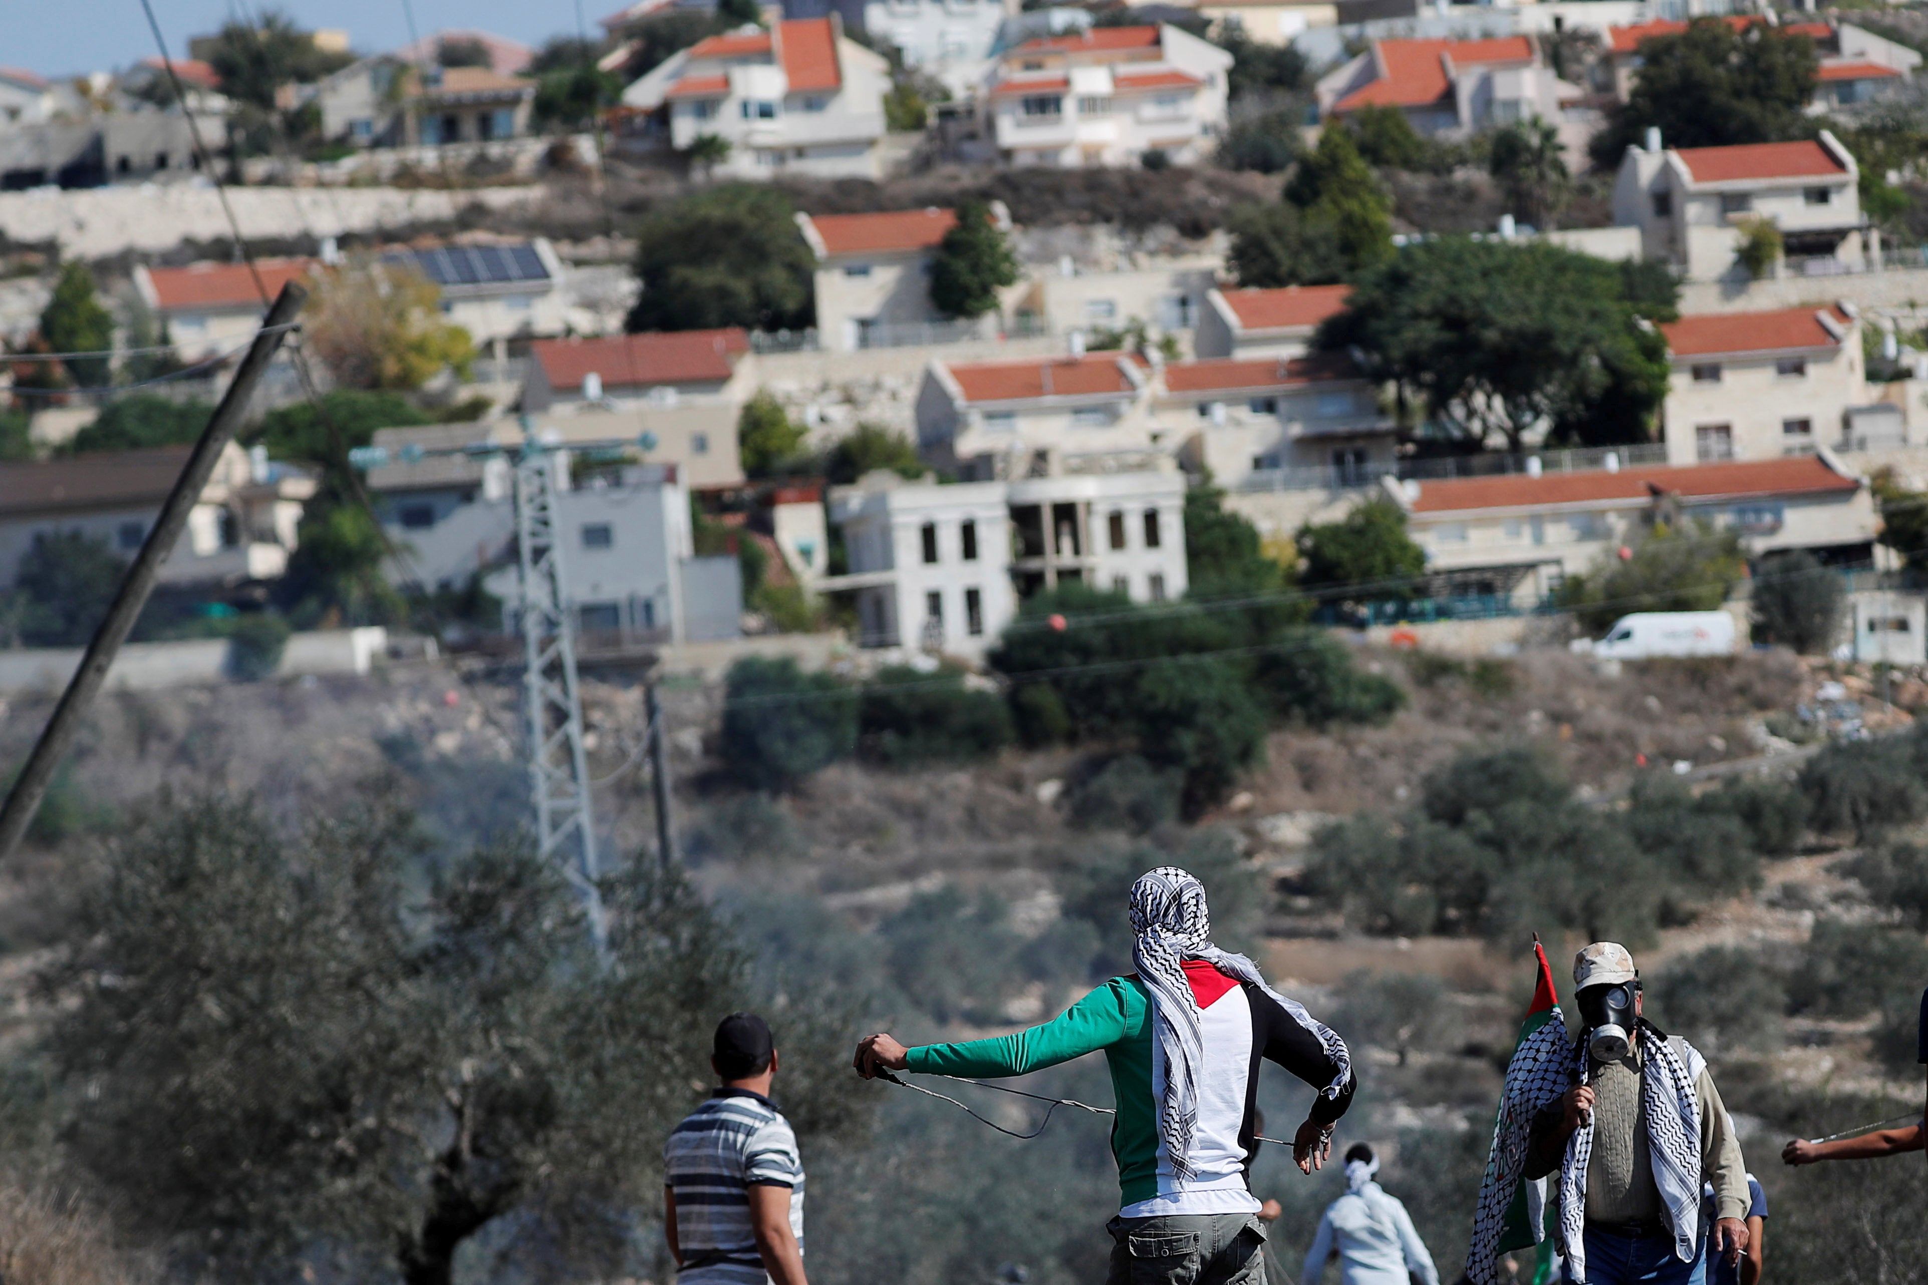
<instances>
[{"instance_id":1,"label":"white house with tall steep orange roof section, top centre-left","mask_svg":"<svg viewBox=\"0 0 1928 1285\"><path fill-rule=\"evenodd\" d=\"M623 91L619 144L686 152L717 137L715 173L875 179L891 64L843 35L843 19L740 27L673 54Z\"/></svg>"}]
</instances>

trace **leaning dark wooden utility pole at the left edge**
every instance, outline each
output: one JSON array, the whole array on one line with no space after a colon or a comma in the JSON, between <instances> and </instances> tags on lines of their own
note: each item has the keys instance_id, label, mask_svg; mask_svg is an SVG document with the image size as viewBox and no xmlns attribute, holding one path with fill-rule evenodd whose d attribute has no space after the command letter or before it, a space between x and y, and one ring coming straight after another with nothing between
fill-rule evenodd
<instances>
[{"instance_id":1,"label":"leaning dark wooden utility pole at the left edge","mask_svg":"<svg viewBox=\"0 0 1928 1285\"><path fill-rule=\"evenodd\" d=\"M35 742L33 753L27 755L27 765L19 769L6 803L0 805L0 861L13 855L13 848L19 846L21 836L27 832L27 825L40 807L40 798L46 794L48 782L54 780L54 769L60 767L60 761L73 746L73 738L81 730L81 719L87 717L89 705L100 694L114 657L120 653L121 643L127 642L127 634L141 616L141 609L147 607L148 593L154 591L160 564L168 561L174 545L179 543L181 532L187 528L189 511L201 499L201 491L206 489L208 478L214 476L214 464L220 460L222 449L233 441L235 430L241 428L241 416L247 412L254 387L260 383L262 374L266 374L276 349L287 339L287 329L293 326L295 314L301 312L301 304L307 299L308 291L293 281L281 287L281 295L268 308L260 329L254 331L254 343L249 345L247 356L241 358L241 366L235 370L233 383L228 385L222 405L214 408L214 414L208 416L208 426L201 430L201 441L187 455L187 468L181 470L181 476L174 482L174 489L168 491L168 499L160 507L160 516L154 518L147 541L141 543L141 551L133 557L120 591L114 595L114 605L108 607L106 618L94 630L93 642L87 643L81 667L67 680L67 690L62 694L60 703L54 705L54 717L40 728L40 740Z\"/></svg>"}]
</instances>

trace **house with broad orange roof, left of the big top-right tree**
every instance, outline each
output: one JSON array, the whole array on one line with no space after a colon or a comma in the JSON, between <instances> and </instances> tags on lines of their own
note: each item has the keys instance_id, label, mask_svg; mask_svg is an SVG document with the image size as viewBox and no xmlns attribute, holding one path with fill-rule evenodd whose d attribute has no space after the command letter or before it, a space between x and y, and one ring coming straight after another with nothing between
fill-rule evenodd
<instances>
[{"instance_id":1,"label":"house with broad orange roof, left of the big top-right tree","mask_svg":"<svg viewBox=\"0 0 1928 1285\"><path fill-rule=\"evenodd\" d=\"M1515 35L1373 40L1363 54L1321 77L1313 92L1326 118L1365 106L1400 108L1423 135L1461 137L1535 116L1569 123L1567 104L1579 104L1587 91L1554 75L1533 37ZM1562 131L1562 141L1567 146L1581 143L1593 123L1591 116L1575 114L1575 129Z\"/></svg>"}]
</instances>

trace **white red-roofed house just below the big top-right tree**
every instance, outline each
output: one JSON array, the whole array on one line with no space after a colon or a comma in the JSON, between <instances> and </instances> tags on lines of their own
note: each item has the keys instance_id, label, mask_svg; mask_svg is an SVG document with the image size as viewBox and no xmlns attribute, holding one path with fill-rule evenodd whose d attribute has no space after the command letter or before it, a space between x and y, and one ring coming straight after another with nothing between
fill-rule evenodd
<instances>
[{"instance_id":1,"label":"white red-roofed house just below the big top-right tree","mask_svg":"<svg viewBox=\"0 0 1928 1285\"><path fill-rule=\"evenodd\" d=\"M1614 222L1641 229L1647 258L1689 281L1743 277L1741 227L1762 218L1780 227L1789 270L1826 272L1862 254L1859 170L1830 131L1691 148L1664 148L1658 133L1627 148L1614 181Z\"/></svg>"}]
</instances>

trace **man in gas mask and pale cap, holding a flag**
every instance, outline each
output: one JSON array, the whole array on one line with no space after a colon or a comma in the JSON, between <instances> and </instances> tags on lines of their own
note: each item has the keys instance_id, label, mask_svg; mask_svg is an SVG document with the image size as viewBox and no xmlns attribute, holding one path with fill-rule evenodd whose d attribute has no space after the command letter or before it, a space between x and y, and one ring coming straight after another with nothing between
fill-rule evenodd
<instances>
[{"instance_id":1,"label":"man in gas mask and pale cap, holding a flag","mask_svg":"<svg viewBox=\"0 0 1928 1285\"><path fill-rule=\"evenodd\" d=\"M1714 1189L1708 1256L1747 1246L1747 1166L1706 1060L1641 1017L1641 977L1618 942L1573 959L1581 1036L1567 1090L1529 1133L1525 1175L1558 1171L1558 1248L1583 1285L1704 1285L1702 1185Z\"/></svg>"}]
</instances>

